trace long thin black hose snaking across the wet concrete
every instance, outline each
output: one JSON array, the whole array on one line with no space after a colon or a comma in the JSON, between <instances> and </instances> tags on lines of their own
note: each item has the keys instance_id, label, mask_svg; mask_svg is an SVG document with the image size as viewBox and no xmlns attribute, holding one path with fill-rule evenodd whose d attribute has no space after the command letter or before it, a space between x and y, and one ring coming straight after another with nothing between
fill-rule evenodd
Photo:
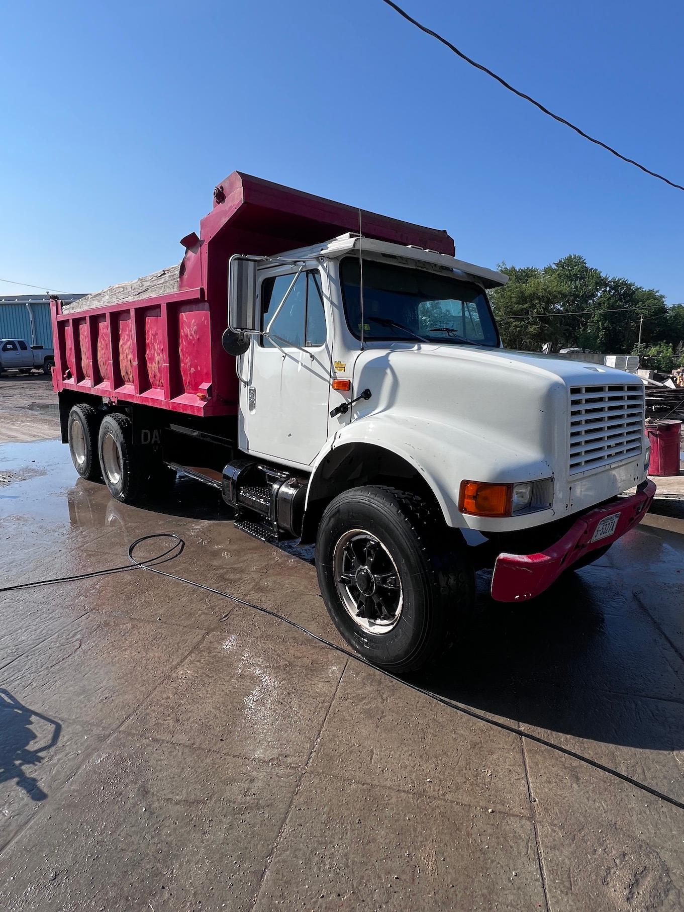
<instances>
[{"instance_id":1,"label":"long thin black hose snaking across the wet concrete","mask_svg":"<svg viewBox=\"0 0 684 912\"><path fill-rule=\"evenodd\" d=\"M164 551L162 554L150 557L150 559L147 561L137 560L134 554L136 548L138 548L143 542L149 542L155 538L172 538L174 539L174 544L172 544L171 547ZM221 589L214 589L212 586L204 586L203 583L197 583L193 579L186 579L184 576L169 573L167 570L157 569L158 565L165 564L167 561L171 561L176 557L179 557L182 554L184 548L184 540L175 532L161 532L150 535L141 535L140 538L136 538L136 540L134 542L131 542L129 545L128 554L130 564L109 567L108 569L104 570L94 570L91 573L56 576L52 579L36 580L35 582L29 583L17 583L14 586L3 586L0 588L0 593L13 592L17 589L28 589L32 586L49 586L55 583L68 583L78 579L88 579L92 576L122 573L126 570L148 570L150 573L166 576L168 579L175 580L177 583L185 583L186 586L194 586L196 589L202 589L203 592L211 592L213 596L228 598L236 605L244 605L244 607L252 608L254 611L259 611L261 614L267 615L268 617L275 617L275 620L280 621L283 624L287 624L289 627L294 627L295 630L299 630L300 633L306 634L307 637L315 639L317 643L321 643L323 646L326 646L329 649L334 649L336 652L341 653L343 656L347 656L347 658L353 658L355 661L360 662L362 665L366 665L368 668L372 668L374 671L377 671L379 674L384 675L386 678L395 680L404 687L415 690L416 693L420 693L424 697L429 697L430 700L436 700L436 702L441 703L442 706L446 706L450 710L456 710L457 712L461 712L464 716L469 716L471 719L476 719L480 722L484 722L486 725L492 725L494 728L501 729L501 731L508 731L514 735L518 735L519 737L524 738L526 741L534 741L535 744L541 744L543 747L548 747L553 751L558 751L559 753L565 754L566 757L572 757L573 760L586 763L587 766L591 766L595 770L606 772L608 775L619 779L621 782L627 782L627 785L632 785L634 788L640 789L642 792L653 795L654 798L658 798L660 801L672 804L674 807L679 808L679 810L684 811L684 803L678 801L676 798L672 798L668 794L658 792L657 789L651 788L651 786L647 785L645 782L639 782L637 779L633 779L631 776L627 776L624 772L614 770L611 767L606 766L604 763L599 763L596 760L592 760L590 757L585 757L581 753L571 751L569 748L562 747L560 744L554 744L553 741L546 741L546 739L540 738L538 735L534 735L531 732L521 731L520 729L514 728L513 725L507 725L505 722L490 719L487 716L483 716L480 712L475 712L474 710L469 710L465 706L461 706L460 703L452 703L451 700L446 700L444 697L440 697L439 694L432 693L431 690L421 688L418 684L412 684L410 681L404 678L400 678L399 675L393 674L386 668L378 668L377 665L373 665L372 662L369 662L368 659L363 658L363 656L359 656L358 653L352 652L350 649L347 649L343 646L338 646L337 643L331 642L329 639L326 639L326 637L319 637L318 634L313 632L313 630L308 630L306 627L302 627L301 624L297 624L296 621L290 620L289 617L278 614L277 611L272 611L270 608L264 608L262 605L255 605L254 602L248 602L244 598L232 596L228 592L222 592ZM223 615L223 617L221 617L221 620L225 620L226 617L228 617L228 615Z\"/></svg>"}]
</instances>

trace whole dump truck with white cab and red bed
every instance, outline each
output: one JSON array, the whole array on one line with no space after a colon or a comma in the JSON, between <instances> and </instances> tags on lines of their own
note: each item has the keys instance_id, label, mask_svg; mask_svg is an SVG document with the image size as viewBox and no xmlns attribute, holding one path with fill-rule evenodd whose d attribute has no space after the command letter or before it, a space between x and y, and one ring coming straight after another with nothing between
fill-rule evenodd
<instances>
[{"instance_id":1,"label":"whole dump truck with white cab and red bed","mask_svg":"<svg viewBox=\"0 0 684 912\"><path fill-rule=\"evenodd\" d=\"M641 381L506 350L506 276L448 233L235 171L181 244L162 294L53 302L62 440L118 501L183 472L238 529L316 543L369 661L420 668L477 571L527 601L647 512Z\"/></svg>"}]
</instances>

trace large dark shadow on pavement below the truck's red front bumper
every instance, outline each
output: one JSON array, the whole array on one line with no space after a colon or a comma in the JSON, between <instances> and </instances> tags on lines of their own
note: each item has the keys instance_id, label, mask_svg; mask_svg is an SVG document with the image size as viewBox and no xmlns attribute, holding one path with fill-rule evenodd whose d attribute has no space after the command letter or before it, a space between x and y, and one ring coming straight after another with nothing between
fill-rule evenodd
<instances>
[{"instance_id":1,"label":"large dark shadow on pavement below the truck's red front bumper","mask_svg":"<svg viewBox=\"0 0 684 912\"><path fill-rule=\"evenodd\" d=\"M620 583L613 577L607 586L619 589ZM623 614L624 602L606 614L602 598L606 586L596 577L589 582L574 574L523 605L495 603L482 591L448 655L413 680L472 710L527 726L681 750L681 690L673 700L658 696L660 676L666 689L672 671L661 639L645 635L650 630L634 611Z\"/></svg>"}]
</instances>

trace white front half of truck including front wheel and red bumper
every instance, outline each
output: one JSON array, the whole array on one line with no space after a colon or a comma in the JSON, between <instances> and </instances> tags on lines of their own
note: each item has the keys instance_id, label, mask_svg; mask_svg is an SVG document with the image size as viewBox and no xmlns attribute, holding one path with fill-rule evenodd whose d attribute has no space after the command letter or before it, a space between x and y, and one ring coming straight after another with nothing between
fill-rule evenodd
<instances>
[{"instance_id":1,"label":"white front half of truck including front wheel and red bumper","mask_svg":"<svg viewBox=\"0 0 684 912\"><path fill-rule=\"evenodd\" d=\"M643 384L504 349L505 275L354 234L229 275L239 448L298 473L326 605L368 658L422 664L480 555L492 596L524 601L648 510Z\"/></svg>"}]
</instances>

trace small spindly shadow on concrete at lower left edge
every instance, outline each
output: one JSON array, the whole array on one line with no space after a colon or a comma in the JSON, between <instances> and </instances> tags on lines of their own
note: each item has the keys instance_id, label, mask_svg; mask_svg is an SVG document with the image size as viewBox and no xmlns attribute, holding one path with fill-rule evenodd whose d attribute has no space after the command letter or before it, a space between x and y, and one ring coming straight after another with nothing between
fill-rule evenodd
<instances>
[{"instance_id":1,"label":"small spindly shadow on concrete at lower left edge","mask_svg":"<svg viewBox=\"0 0 684 912\"><path fill-rule=\"evenodd\" d=\"M38 725L34 731L36 720L46 724ZM26 775L26 767L43 762L43 754L55 747L61 733L59 722L29 710L9 690L0 688L0 782L16 780L16 785L32 801L45 801L47 793L38 785L35 776ZM45 743L29 748L33 741Z\"/></svg>"}]
</instances>

